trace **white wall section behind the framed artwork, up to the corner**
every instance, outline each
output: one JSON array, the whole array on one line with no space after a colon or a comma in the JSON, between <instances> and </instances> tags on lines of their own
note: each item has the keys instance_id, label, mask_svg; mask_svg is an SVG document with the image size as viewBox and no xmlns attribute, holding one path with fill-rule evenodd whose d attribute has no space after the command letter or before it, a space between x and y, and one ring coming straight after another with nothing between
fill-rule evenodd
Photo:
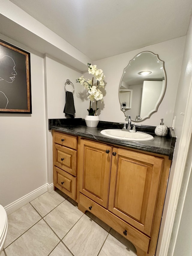
<instances>
[{"instance_id":1,"label":"white wall section behind the framed artwork, up to the corner","mask_svg":"<svg viewBox=\"0 0 192 256\"><path fill-rule=\"evenodd\" d=\"M7 206L47 183L43 56L31 53L32 114L0 114L0 204Z\"/></svg>"}]
</instances>

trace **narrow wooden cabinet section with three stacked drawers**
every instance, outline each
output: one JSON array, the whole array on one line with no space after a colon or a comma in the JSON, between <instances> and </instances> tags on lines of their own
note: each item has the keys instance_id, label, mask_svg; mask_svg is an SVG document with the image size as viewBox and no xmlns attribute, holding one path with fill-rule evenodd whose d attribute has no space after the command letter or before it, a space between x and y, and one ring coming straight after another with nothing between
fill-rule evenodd
<instances>
[{"instance_id":1,"label":"narrow wooden cabinet section with three stacked drawers","mask_svg":"<svg viewBox=\"0 0 192 256\"><path fill-rule=\"evenodd\" d=\"M53 184L76 200L77 137L53 131Z\"/></svg>"}]
</instances>

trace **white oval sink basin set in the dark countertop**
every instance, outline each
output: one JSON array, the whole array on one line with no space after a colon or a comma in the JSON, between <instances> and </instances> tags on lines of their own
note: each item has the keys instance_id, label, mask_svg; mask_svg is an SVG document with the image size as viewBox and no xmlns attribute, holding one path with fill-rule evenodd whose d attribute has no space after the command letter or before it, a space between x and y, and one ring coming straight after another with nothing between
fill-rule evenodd
<instances>
[{"instance_id":1,"label":"white oval sink basin set in the dark countertop","mask_svg":"<svg viewBox=\"0 0 192 256\"><path fill-rule=\"evenodd\" d=\"M152 135L141 132L141 131L128 132L128 131L122 131L121 129L106 129L106 130L102 130L101 134L117 140L146 141L146 140L154 139Z\"/></svg>"}]
</instances>

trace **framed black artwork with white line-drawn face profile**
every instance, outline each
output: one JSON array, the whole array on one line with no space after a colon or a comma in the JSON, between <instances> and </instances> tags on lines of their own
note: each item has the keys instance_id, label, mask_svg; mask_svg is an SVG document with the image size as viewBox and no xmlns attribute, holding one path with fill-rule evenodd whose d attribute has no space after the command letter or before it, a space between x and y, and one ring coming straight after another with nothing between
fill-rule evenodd
<instances>
[{"instance_id":1,"label":"framed black artwork with white line-drawn face profile","mask_svg":"<svg viewBox=\"0 0 192 256\"><path fill-rule=\"evenodd\" d=\"M32 113L30 53L1 39L0 113Z\"/></svg>"}]
</instances>

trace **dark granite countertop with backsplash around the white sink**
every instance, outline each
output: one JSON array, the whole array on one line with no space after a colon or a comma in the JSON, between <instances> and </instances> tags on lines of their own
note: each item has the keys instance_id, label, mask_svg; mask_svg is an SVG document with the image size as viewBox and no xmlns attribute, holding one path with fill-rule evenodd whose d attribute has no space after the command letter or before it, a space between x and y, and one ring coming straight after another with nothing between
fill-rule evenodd
<instances>
[{"instance_id":1,"label":"dark granite countertop with backsplash around the white sink","mask_svg":"<svg viewBox=\"0 0 192 256\"><path fill-rule=\"evenodd\" d=\"M154 140L150 141L127 141L117 140L106 137L100 133L101 130L107 128L122 128L122 124L113 122L100 121L98 127L87 127L84 119L49 119L49 130L56 130L71 135L81 136L91 140L97 140L105 143L124 146L131 149L138 149L146 152L156 153L169 156L173 160L173 152L175 148L176 136L171 128L168 128L166 137L155 135L155 126L137 126L137 131L143 131L151 134Z\"/></svg>"}]
</instances>

